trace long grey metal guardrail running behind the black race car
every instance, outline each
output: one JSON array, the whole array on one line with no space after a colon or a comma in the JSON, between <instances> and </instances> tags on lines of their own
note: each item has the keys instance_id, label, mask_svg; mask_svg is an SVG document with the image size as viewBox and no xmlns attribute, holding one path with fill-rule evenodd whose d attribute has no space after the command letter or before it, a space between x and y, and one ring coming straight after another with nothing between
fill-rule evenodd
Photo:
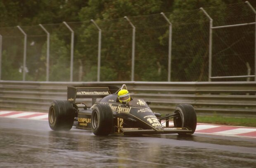
<instances>
[{"instance_id":1,"label":"long grey metal guardrail running behind the black race car","mask_svg":"<svg viewBox=\"0 0 256 168\"><path fill-rule=\"evenodd\" d=\"M256 82L24 82L0 81L0 109L48 112L50 102L66 99L68 85L126 84L132 97L151 101L154 112L173 113L192 104L197 114L256 117ZM88 106L90 99L83 100Z\"/></svg>"}]
</instances>

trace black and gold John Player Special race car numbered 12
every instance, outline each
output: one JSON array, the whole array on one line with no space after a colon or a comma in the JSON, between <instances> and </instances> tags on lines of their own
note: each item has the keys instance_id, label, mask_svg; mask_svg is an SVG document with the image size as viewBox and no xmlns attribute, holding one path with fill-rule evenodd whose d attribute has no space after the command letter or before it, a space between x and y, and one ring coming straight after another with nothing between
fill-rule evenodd
<instances>
[{"instance_id":1,"label":"black and gold John Player Special race car numbered 12","mask_svg":"<svg viewBox=\"0 0 256 168\"><path fill-rule=\"evenodd\" d=\"M55 100L49 109L49 125L52 130L91 129L97 136L110 133L123 135L178 133L193 134L197 127L197 115L190 104L180 104L173 114L161 116L149 108L150 102L131 99L120 103L120 89L115 86L68 86L68 100ZM91 98L92 106L76 102ZM96 101L97 98L102 98ZM174 127L169 127L173 119ZM162 123L164 122L164 123Z\"/></svg>"}]
</instances>

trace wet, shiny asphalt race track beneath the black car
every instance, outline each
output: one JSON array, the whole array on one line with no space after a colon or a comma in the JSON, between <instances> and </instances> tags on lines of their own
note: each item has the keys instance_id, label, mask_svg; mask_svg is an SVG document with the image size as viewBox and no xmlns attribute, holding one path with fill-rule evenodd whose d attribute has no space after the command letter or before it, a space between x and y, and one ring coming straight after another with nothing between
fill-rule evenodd
<instances>
[{"instance_id":1,"label":"wet, shiny asphalt race track beneath the black car","mask_svg":"<svg viewBox=\"0 0 256 168\"><path fill-rule=\"evenodd\" d=\"M0 167L254 168L256 138L194 133L95 136L47 121L0 118Z\"/></svg>"}]
</instances>

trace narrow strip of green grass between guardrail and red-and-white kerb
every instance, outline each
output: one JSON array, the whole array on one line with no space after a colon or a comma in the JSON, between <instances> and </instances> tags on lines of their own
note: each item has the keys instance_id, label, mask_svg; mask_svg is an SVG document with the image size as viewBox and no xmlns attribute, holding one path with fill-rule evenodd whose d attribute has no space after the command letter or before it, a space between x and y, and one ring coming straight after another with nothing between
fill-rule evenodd
<instances>
[{"instance_id":1,"label":"narrow strip of green grass between guardrail and red-and-white kerb","mask_svg":"<svg viewBox=\"0 0 256 168\"><path fill-rule=\"evenodd\" d=\"M221 124L232 126L256 127L256 118L235 118L214 116L197 116L198 123Z\"/></svg>"}]
</instances>

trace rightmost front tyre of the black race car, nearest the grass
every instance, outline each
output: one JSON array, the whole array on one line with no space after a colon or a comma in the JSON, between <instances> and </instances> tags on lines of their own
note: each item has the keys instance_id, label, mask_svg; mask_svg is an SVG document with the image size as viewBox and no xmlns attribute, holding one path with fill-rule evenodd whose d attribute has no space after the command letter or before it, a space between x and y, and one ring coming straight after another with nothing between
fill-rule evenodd
<instances>
[{"instance_id":1,"label":"rightmost front tyre of the black race car, nearest the grass","mask_svg":"<svg viewBox=\"0 0 256 168\"><path fill-rule=\"evenodd\" d=\"M192 130L192 133L178 133L179 135L192 135L197 128L197 114L190 104L180 104L176 107L173 118L174 127L186 127Z\"/></svg>"}]
</instances>

